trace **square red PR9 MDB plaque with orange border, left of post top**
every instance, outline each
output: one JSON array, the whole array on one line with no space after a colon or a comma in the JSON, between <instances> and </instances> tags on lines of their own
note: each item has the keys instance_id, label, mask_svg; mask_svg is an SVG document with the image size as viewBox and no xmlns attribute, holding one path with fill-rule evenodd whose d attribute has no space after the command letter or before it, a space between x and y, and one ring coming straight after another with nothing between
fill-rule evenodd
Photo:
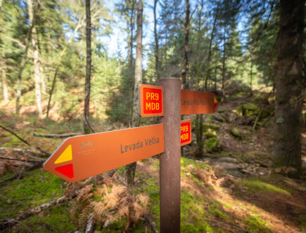
<instances>
[{"instance_id":1,"label":"square red PR9 MDB plaque with orange border, left of post top","mask_svg":"<svg viewBox=\"0 0 306 233\"><path fill-rule=\"evenodd\" d=\"M139 86L140 115L163 116L162 86L141 84Z\"/></svg>"}]
</instances>

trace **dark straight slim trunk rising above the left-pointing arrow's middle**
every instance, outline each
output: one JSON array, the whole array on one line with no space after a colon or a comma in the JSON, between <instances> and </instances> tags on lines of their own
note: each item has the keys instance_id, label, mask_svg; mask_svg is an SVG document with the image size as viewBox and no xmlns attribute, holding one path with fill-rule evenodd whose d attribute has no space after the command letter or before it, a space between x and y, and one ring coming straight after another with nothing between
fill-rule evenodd
<instances>
[{"instance_id":1,"label":"dark straight slim trunk rising above the left-pointing arrow's middle","mask_svg":"<svg viewBox=\"0 0 306 233\"><path fill-rule=\"evenodd\" d=\"M91 19L90 0L86 0L86 77L85 77L85 100L84 100L84 134L91 133L89 126L89 101L90 101L90 76L91 76Z\"/></svg>"}]
</instances>

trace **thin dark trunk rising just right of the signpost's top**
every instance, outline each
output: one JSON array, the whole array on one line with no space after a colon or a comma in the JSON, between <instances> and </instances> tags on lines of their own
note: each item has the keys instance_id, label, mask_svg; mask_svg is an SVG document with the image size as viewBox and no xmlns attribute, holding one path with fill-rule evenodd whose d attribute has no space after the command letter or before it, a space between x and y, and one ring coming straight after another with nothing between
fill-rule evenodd
<instances>
[{"instance_id":1,"label":"thin dark trunk rising just right of the signpost's top","mask_svg":"<svg viewBox=\"0 0 306 233\"><path fill-rule=\"evenodd\" d=\"M186 2L186 20L185 20L185 39L184 39L184 58L183 69L181 70L181 87L186 88L186 76L188 71L188 53L189 53L189 28L190 28L190 4L189 0Z\"/></svg>"}]
</instances>

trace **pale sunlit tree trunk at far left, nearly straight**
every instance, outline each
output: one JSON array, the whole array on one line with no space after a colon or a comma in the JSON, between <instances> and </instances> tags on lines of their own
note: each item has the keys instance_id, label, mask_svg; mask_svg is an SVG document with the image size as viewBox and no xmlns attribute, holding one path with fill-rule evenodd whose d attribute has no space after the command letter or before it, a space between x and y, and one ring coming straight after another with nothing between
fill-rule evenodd
<instances>
[{"instance_id":1,"label":"pale sunlit tree trunk at far left, nearly straight","mask_svg":"<svg viewBox=\"0 0 306 233\"><path fill-rule=\"evenodd\" d=\"M33 65L34 65L34 82L37 112L42 116L42 92L41 92L41 65L39 61L39 48L37 31L34 23L34 6L32 0L27 0L27 11L29 14L30 25L32 25L32 46L33 46Z\"/></svg>"}]
</instances>

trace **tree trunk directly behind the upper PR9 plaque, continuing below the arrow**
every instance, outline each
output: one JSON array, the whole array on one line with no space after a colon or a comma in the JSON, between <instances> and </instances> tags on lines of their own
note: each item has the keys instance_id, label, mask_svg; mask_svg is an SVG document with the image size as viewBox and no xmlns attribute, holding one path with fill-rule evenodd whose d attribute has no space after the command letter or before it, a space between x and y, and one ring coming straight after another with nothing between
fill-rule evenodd
<instances>
[{"instance_id":1,"label":"tree trunk directly behind the upper PR9 plaque, continuing below the arrow","mask_svg":"<svg viewBox=\"0 0 306 233\"><path fill-rule=\"evenodd\" d=\"M134 84L134 102L132 127L139 127L139 84L142 83L142 14L143 3L140 0L137 4L137 34L136 34L136 64L135 64L135 84ZM136 171L136 162L126 166L127 182L129 185L134 183L134 176Z\"/></svg>"}]
</instances>

